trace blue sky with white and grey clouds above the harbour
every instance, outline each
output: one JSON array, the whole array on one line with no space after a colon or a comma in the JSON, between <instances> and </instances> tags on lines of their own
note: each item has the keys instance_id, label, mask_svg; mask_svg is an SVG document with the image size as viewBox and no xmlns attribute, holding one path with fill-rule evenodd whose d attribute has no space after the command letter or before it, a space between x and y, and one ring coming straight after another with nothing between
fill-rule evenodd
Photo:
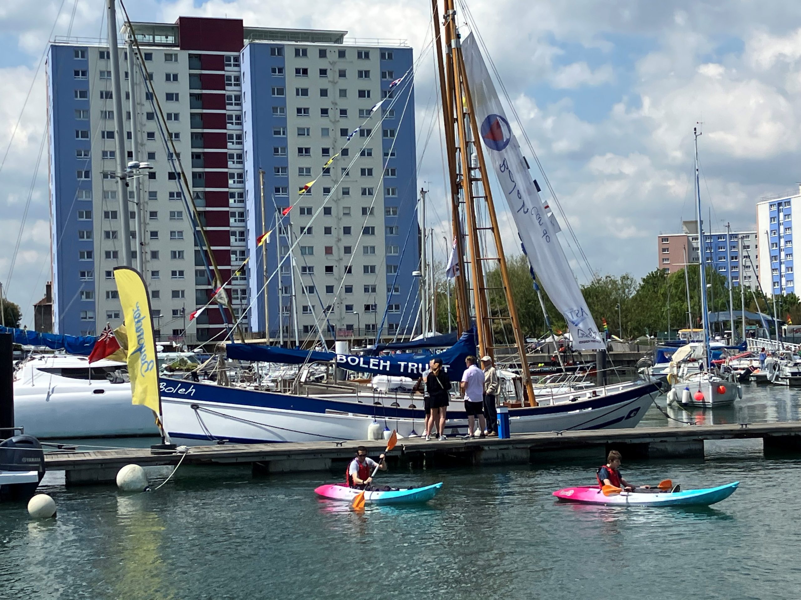
<instances>
[{"instance_id":1,"label":"blue sky with white and grey clouds above the harbour","mask_svg":"<svg viewBox=\"0 0 801 600\"><path fill-rule=\"evenodd\" d=\"M39 64L55 36L105 37L104 4L37 0L31 10L30 2L0 2L0 282L28 325L50 276L46 148L34 178L46 124ZM754 226L755 202L798 190L801 4L469 0L469 7L521 118L518 126L594 271L641 277L656 266L655 235L677 231L682 218L693 217L696 122L703 123L704 213L711 207L714 229L726 222ZM425 48L431 29L425 0L129 0L127 8L132 20L227 16L252 26L405 39L415 50ZM461 15L466 34L465 21ZM430 51L418 58L421 152L433 110L433 58ZM445 218L438 139L431 135L420 157L420 179ZM575 247L566 252L578 255ZM585 281L586 263L574 266Z\"/></svg>"}]
</instances>

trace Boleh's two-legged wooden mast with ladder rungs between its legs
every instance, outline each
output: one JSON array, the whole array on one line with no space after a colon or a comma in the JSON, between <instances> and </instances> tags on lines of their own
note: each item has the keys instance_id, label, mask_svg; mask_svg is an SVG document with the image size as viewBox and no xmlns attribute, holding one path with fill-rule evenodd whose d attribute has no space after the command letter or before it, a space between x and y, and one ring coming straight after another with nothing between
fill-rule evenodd
<instances>
[{"instance_id":1,"label":"Boleh's two-legged wooden mast with ladder rungs between its legs","mask_svg":"<svg viewBox=\"0 0 801 600\"><path fill-rule=\"evenodd\" d=\"M456 101L456 114L458 117L456 125L459 141L459 155L461 158L461 186L464 194L463 201L465 202L466 230L469 234L470 269L473 277L473 297L476 310L479 352L482 356L487 354L491 358L495 358L492 322L493 320L500 320L501 322L504 320L500 316L493 318L489 314L484 269L481 264L484 260L497 260L499 270L501 271L501 282L503 284L502 287L506 298L506 304L509 308L509 319L512 322L515 345L517 346L517 353L520 357L521 378L525 394L528 395L529 404L531 406L536 406L534 390L531 383L531 374L529 374L529 363L525 355L525 339L523 338L520 319L517 316L517 306L515 305L512 295L512 287L509 282L509 270L506 265L503 243L501 242L501 230L498 226L493 195L489 187L489 179L487 178L484 150L481 147L481 142L478 142L480 134L478 123L475 118L475 110L473 108L473 95L470 91L465 62L461 54L461 39L456 29L456 10L454 10L453 0L445 0L445 7L445 30L448 32L448 34L446 34L446 39L451 41L450 62L453 64L452 89L456 92L453 94L453 97ZM469 124L470 136L468 135L465 121ZM471 148L476 154L477 169L470 164L472 161L469 149ZM473 172L475 170L478 171L477 174ZM476 186L480 185L480 190L478 191L483 192L483 196L475 193L476 190L474 190L473 184L476 184ZM497 252L497 257L494 258L481 256L481 247L477 235L478 226L476 222L477 199L484 200L485 202L485 209L489 216L490 226L482 227L482 229L489 229L493 234Z\"/></svg>"}]
</instances>

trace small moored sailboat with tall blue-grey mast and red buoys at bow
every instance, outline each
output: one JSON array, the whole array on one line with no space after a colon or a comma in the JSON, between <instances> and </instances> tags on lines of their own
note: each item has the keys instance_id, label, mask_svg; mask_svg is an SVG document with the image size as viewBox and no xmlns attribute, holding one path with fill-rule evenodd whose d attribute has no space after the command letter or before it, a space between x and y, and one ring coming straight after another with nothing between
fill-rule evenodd
<instances>
[{"instance_id":1,"label":"small moored sailboat with tall blue-grey mast and red buoys at bow","mask_svg":"<svg viewBox=\"0 0 801 600\"><path fill-rule=\"evenodd\" d=\"M704 258L706 242L703 237L701 189L698 178L698 137L701 132L698 131L698 127L693 128L693 134L695 138L695 210L698 220L698 268L701 282L703 341L701 343L690 342L673 354L668 375L669 381L673 383L673 389L668 393L668 403L681 402L687 406L705 407L725 406L735 402L738 397L743 397L743 387L731 378L724 378L718 370L714 369L710 353L709 306L706 304L706 261ZM728 236L726 243L728 246ZM686 362L689 358L697 358L698 362ZM698 368L695 365L698 365Z\"/></svg>"}]
</instances>

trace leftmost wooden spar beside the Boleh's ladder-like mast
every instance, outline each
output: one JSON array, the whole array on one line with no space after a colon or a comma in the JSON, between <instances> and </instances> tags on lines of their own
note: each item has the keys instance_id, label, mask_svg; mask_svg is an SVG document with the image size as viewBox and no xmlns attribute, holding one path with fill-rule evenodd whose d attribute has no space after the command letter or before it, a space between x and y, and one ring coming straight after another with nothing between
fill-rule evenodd
<instances>
[{"instance_id":1,"label":"leftmost wooden spar beside the Boleh's ladder-like mast","mask_svg":"<svg viewBox=\"0 0 801 600\"><path fill-rule=\"evenodd\" d=\"M453 278L453 295L456 298L457 330L461 333L470 329L470 313L467 302L467 274L463 268L465 264L465 241L462 237L459 222L459 183L456 167L456 141L453 135L453 123L456 118L453 114L453 68L450 62L450 30L443 23L440 30L439 0L431 0L434 28L434 46L437 49L437 74L440 80L440 98L442 101L442 121L445 129L445 156L448 158L448 174L450 177L451 192L451 227L453 239L456 240L457 265L461 266L459 274ZM442 56L442 46L449 55L445 62ZM446 75L447 74L447 75ZM447 246L446 246L447 247Z\"/></svg>"}]
</instances>

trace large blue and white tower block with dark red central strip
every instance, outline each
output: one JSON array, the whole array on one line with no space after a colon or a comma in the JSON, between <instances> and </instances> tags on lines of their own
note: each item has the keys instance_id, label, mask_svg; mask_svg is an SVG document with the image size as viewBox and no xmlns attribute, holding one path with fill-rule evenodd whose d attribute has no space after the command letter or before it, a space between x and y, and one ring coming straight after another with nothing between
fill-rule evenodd
<instances>
[{"instance_id":1,"label":"large blue and white tower block with dark red central strip","mask_svg":"<svg viewBox=\"0 0 801 600\"><path fill-rule=\"evenodd\" d=\"M412 49L238 19L182 17L132 29L142 52L132 73L119 50L125 162L136 143L151 168L127 179L131 240L120 234L107 46L50 46L54 330L96 334L121 322L112 271L126 252L142 252L162 339L184 337L187 326L191 342L224 338L243 314L246 328L287 341L295 329L304 339L318 328L328 339L369 338L382 323L384 334L400 329L417 310L417 173L412 86L392 82L411 69ZM270 241L256 246L268 230ZM234 314L212 305L193 330L188 314L215 288L209 253L229 282Z\"/></svg>"}]
</instances>

